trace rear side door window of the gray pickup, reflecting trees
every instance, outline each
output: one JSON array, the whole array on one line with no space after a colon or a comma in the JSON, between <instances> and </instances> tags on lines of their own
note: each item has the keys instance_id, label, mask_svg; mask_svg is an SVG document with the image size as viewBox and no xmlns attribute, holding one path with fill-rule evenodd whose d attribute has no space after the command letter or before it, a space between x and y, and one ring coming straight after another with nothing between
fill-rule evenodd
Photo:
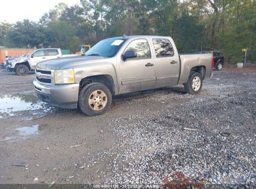
<instances>
[{"instance_id":1,"label":"rear side door window of the gray pickup, reflecting trees","mask_svg":"<svg viewBox=\"0 0 256 189\"><path fill-rule=\"evenodd\" d=\"M174 56L173 45L168 39L153 39L153 44L157 58Z\"/></svg>"}]
</instances>

